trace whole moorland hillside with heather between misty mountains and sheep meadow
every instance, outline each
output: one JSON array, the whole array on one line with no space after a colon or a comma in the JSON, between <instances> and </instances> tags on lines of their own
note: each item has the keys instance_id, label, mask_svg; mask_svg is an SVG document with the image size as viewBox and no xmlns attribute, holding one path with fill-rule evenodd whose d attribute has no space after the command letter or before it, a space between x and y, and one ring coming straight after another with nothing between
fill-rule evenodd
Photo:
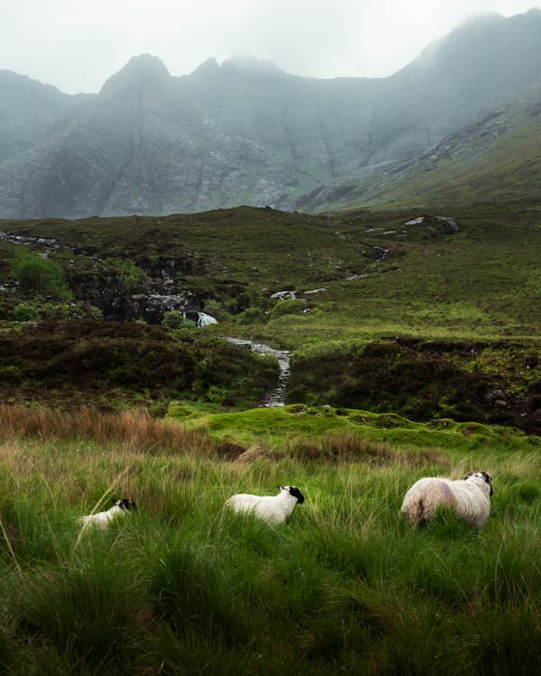
<instances>
[{"instance_id":1,"label":"whole moorland hillside with heather between misty mountains and sheep meadow","mask_svg":"<svg viewBox=\"0 0 541 676\"><path fill-rule=\"evenodd\" d=\"M291 352L291 404L536 433L540 220L530 201L6 221L0 397L157 411L185 398L254 406L276 370L225 347L221 337L236 336ZM31 271L54 264L65 286L37 288L44 281L23 276L22 250L33 251ZM157 295L188 298L188 309L218 323L152 327L167 313L149 315L133 299ZM107 313L116 321L104 324Z\"/></svg>"}]
</instances>

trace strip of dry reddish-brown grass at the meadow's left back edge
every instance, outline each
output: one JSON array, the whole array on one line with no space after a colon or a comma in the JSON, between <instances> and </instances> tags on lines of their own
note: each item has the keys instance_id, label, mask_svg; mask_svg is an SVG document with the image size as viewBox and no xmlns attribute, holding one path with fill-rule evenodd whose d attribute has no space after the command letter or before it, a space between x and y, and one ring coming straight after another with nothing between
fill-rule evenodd
<instances>
[{"instance_id":1,"label":"strip of dry reddish-brown grass at the meadow's left back edge","mask_svg":"<svg viewBox=\"0 0 541 676\"><path fill-rule=\"evenodd\" d=\"M146 409L102 413L81 407L75 411L0 405L0 439L34 437L92 439L99 443L121 443L142 452L172 451L209 455L214 451L210 437L186 431L175 421L153 418Z\"/></svg>"}]
</instances>

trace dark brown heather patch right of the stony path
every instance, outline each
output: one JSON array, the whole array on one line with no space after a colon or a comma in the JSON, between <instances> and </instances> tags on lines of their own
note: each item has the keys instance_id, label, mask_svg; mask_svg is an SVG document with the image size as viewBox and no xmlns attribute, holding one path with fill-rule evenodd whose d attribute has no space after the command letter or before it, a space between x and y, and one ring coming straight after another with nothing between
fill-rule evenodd
<instances>
[{"instance_id":1,"label":"dark brown heather patch right of the stony path","mask_svg":"<svg viewBox=\"0 0 541 676\"><path fill-rule=\"evenodd\" d=\"M309 403L319 397L335 407L393 411L417 421L437 416L512 424L509 410L495 408L487 398L497 381L453 361L452 349L463 349L462 344L442 342L437 356L435 342L404 339L332 342L327 354L325 344L308 345L291 363L288 401Z\"/></svg>"}]
</instances>

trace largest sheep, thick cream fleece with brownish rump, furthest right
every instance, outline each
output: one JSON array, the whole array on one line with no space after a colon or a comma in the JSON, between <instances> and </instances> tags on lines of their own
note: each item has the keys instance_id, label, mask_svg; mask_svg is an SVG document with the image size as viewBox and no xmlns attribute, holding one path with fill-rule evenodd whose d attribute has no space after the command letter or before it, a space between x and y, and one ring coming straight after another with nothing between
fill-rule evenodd
<instances>
[{"instance_id":1,"label":"largest sheep, thick cream fleece with brownish rump, furthest right","mask_svg":"<svg viewBox=\"0 0 541 676\"><path fill-rule=\"evenodd\" d=\"M481 528L491 512L493 492L491 475L486 471L470 472L456 481L426 477L408 489L400 512L410 525L425 525L436 508L445 505L469 525Z\"/></svg>"}]
</instances>

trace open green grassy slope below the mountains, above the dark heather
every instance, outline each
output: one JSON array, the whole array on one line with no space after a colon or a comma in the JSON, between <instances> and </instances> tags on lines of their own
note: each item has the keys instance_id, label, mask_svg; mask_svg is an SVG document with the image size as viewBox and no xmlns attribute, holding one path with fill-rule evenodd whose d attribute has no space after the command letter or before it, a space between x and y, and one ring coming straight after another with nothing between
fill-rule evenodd
<instances>
[{"instance_id":1,"label":"open green grassy slope below the mountains, above the dark heather","mask_svg":"<svg viewBox=\"0 0 541 676\"><path fill-rule=\"evenodd\" d=\"M257 327L292 348L326 334L535 336L539 306L532 299L541 282L537 203L431 209L432 215L457 220L461 232L454 234L403 225L420 213L324 217L240 208L163 219L5 222L2 229L54 236L63 246L97 248L104 258L122 255L142 267L145 260L151 264L149 251L155 251L158 267L197 259L200 271L180 270L176 281L210 297L226 299L229 286L233 300L252 288L269 307L273 291L292 287L305 297L325 288L306 295L308 305L324 315L290 326L288 318L287 331L280 323ZM374 247L390 250L386 260L376 260Z\"/></svg>"}]
</instances>

